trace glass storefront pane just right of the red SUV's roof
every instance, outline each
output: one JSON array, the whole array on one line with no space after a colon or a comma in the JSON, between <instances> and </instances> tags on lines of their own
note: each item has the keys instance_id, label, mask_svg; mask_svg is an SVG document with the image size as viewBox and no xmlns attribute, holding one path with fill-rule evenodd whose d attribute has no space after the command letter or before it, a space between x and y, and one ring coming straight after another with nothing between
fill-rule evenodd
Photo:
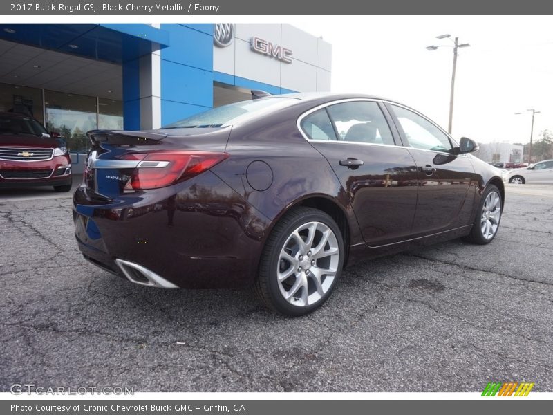
<instances>
[{"instance_id":1,"label":"glass storefront pane just right of the red SUV's roof","mask_svg":"<svg viewBox=\"0 0 553 415\"><path fill-rule=\"evenodd\" d=\"M86 153L86 131L97 129L96 98L72 93L44 91L46 129L58 132L71 152Z\"/></svg>"}]
</instances>

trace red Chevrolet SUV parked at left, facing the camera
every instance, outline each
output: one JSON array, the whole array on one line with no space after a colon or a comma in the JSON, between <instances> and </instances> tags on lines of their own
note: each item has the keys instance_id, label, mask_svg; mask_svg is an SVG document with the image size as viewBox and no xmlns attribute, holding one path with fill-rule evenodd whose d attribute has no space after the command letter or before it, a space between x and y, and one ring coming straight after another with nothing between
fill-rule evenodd
<instances>
[{"instance_id":1,"label":"red Chevrolet SUV parked at left, facing the camera","mask_svg":"<svg viewBox=\"0 0 553 415\"><path fill-rule=\"evenodd\" d=\"M0 112L0 187L53 186L71 190L71 158L61 138L54 138L30 116Z\"/></svg>"}]
</instances>

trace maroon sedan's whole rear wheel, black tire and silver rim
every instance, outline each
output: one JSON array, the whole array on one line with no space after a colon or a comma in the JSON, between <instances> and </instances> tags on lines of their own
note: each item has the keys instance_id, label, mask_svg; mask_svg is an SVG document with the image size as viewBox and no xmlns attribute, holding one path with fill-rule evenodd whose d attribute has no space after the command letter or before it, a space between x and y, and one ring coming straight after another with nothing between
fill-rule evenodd
<instances>
[{"instance_id":1,"label":"maroon sedan's whole rear wheel, black tire and silver rim","mask_svg":"<svg viewBox=\"0 0 553 415\"><path fill-rule=\"evenodd\" d=\"M254 291L278 313L300 316L324 304L344 265L344 240L336 222L313 208L294 208L268 237Z\"/></svg>"}]
</instances>

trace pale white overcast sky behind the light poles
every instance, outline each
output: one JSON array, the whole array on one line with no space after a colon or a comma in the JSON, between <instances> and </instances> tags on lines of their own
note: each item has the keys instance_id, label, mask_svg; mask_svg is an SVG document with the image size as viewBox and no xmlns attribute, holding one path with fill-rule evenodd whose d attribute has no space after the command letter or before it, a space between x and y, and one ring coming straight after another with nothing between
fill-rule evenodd
<instances>
[{"instance_id":1,"label":"pale white overcast sky behind the light poles","mask_svg":"<svg viewBox=\"0 0 553 415\"><path fill-rule=\"evenodd\" d=\"M332 44L332 91L379 95L409 105L447 129L458 36L454 138L534 141L553 131L553 17L360 16L294 18ZM516 112L523 112L515 115Z\"/></svg>"}]
</instances>

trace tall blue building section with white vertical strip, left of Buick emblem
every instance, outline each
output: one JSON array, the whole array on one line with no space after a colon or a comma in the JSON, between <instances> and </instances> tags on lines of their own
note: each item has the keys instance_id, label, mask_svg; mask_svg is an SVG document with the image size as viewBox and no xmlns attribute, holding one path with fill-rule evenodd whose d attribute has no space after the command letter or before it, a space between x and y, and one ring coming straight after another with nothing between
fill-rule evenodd
<instances>
[{"instance_id":1,"label":"tall blue building section with white vertical strip, left of Buick emblem","mask_svg":"<svg viewBox=\"0 0 553 415\"><path fill-rule=\"evenodd\" d=\"M213 107L213 25L161 28L170 46L123 64L124 129L156 129Z\"/></svg>"}]
</instances>

